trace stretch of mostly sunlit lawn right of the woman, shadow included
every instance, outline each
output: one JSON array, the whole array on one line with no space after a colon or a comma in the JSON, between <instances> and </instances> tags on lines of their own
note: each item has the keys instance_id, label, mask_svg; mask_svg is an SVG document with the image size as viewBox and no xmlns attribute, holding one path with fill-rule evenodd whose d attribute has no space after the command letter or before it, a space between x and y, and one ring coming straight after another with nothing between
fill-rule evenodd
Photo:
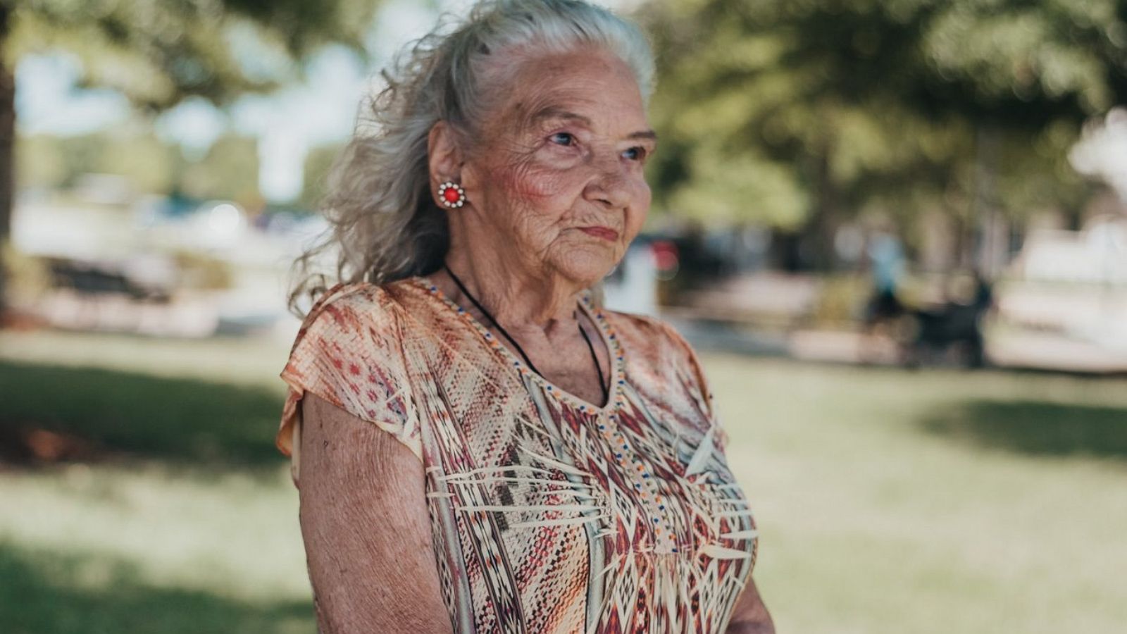
<instances>
[{"instance_id":1,"label":"stretch of mostly sunlit lawn right of the woman, shadow included","mask_svg":"<svg viewBox=\"0 0 1127 634\"><path fill-rule=\"evenodd\" d=\"M781 632L1113 633L1127 623L1127 465L1115 449L1127 380L730 355L706 366L762 535L757 584ZM1041 428L999 446L937 433L935 420Z\"/></svg>"}]
</instances>

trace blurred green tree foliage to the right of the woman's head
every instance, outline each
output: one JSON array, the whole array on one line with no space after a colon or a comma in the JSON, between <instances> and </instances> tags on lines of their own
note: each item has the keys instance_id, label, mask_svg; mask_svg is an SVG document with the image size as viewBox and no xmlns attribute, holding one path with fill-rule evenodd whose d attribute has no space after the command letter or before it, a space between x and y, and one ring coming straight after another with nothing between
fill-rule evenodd
<instances>
[{"instance_id":1,"label":"blurred green tree foliage to the right of the woman's head","mask_svg":"<svg viewBox=\"0 0 1127 634\"><path fill-rule=\"evenodd\" d=\"M657 200L805 223L822 266L859 211L1075 206L1067 149L1127 103L1127 0L654 0L642 19Z\"/></svg>"}]
</instances>

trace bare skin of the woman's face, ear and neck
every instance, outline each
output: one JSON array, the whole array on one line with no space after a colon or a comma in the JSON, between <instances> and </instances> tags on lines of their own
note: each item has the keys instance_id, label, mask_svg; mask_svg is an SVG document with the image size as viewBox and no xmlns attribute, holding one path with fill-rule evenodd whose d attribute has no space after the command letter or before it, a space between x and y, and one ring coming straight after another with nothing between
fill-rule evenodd
<instances>
[{"instance_id":1,"label":"bare skin of the woman's face, ear and neck","mask_svg":"<svg viewBox=\"0 0 1127 634\"><path fill-rule=\"evenodd\" d=\"M646 219L650 190L642 170L656 135L629 68L603 51L532 58L505 86L477 142L464 142L444 122L431 132L435 201L447 179L461 183L467 196L464 206L447 211L446 263L545 378L602 404L578 328L600 337L576 310L578 293L614 267ZM614 235L583 231L589 227ZM444 271L431 279L490 325ZM605 346L596 356L609 373Z\"/></svg>"}]
</instances>

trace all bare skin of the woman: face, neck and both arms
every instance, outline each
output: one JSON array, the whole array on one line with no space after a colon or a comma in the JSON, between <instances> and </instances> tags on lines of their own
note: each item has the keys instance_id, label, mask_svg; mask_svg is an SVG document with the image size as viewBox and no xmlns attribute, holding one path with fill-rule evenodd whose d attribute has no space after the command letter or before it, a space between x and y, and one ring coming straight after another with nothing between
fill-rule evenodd
<instances>
[{"instance_id":1,"label":"all bare skin of the woman: face, neck and both arms","mask_svg":"<svg viewBox=\"0 0 1127 634\"><path fill-rule=\"evenodd\" d=\"M446 263L548 380L602 405L579 328L595 343L604 376L610 354L576 310L578 293L638 235L650 204L642 169L656 139L629 68L602 51L527 60L498 94L478 142L444 122L428 139L435 202L445 180L460 183L468 201L447 211ZM583 230L592 227L614 235ZM429 279L492 329L445 272ZM418 458L317 397L302 411L301 520L320 631L451 632L429 539L403 549L405 534L429 537ZM728 632L774 632L752 580Z\"/></svg>"}]
</instances>

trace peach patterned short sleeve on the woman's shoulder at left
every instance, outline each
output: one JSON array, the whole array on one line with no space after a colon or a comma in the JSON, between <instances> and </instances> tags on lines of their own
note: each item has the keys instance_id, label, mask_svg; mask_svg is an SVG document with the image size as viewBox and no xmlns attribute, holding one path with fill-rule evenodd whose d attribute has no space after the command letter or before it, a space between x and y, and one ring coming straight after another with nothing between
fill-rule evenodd
<instances>
[{"instance_id":1,"label":"peach patterned short sleeve on the woman's shoulder at left","mask_svg":"<svg viewBox=\"0 0 1127 634\"><path fill-rule=\"evenodd\" d=\"M313 306L279 373L289 386L275 444L294 459L301 399L316 394L387 431L423 458L410 398L399 308L369 283L337 284Z\"/></svg>"}]
</instances>

